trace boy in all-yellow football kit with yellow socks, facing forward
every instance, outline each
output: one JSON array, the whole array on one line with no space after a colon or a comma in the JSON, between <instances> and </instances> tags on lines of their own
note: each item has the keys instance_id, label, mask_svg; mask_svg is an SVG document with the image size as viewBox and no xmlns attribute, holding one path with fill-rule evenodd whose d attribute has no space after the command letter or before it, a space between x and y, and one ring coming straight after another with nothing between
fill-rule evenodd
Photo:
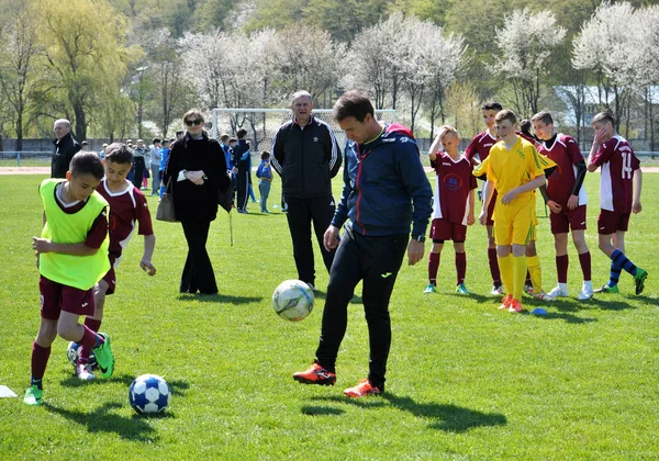
<instances>
[{"instance_id":1,"label":"boy in all-yellow football kit with yellow socks, facing forward","mask_svg":"<svg viewBox=\"0 0 659 461\"><path fill-rule=\"evenodd\" d=\"M496 190L494 239L501 279L506 295L499 308L522 312L522 293L526 279L526 246L535 239L534 189L546 183L544 165L533 144L515 134L517 117L513 111L496 114L500 142L490 149L479 172L487 173L483 209L479 222L485 224L488 204ZM477 173L477 172L474 172Z\"/></svg>"}]
</instances>

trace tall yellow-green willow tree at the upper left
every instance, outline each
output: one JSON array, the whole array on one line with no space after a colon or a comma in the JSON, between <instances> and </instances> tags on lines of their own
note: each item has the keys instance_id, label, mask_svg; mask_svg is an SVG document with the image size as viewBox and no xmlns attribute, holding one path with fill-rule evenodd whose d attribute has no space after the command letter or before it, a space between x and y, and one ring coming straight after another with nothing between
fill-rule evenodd
<instances>
[{"instance_id":1,"label":"tall yellow-green willow tree at the upper left","mask_svg":"<svg viewBox=\"0 0 659 461\"><path fill-rule=\"evenodd\" d=\"M37 0L36 11L45 71L72 113L76 136L85 139L93 94L114 88L139 55L125 45L129 20L105 1L69 0L63 8L58 0Z\"/></svg>"}]
</instances>

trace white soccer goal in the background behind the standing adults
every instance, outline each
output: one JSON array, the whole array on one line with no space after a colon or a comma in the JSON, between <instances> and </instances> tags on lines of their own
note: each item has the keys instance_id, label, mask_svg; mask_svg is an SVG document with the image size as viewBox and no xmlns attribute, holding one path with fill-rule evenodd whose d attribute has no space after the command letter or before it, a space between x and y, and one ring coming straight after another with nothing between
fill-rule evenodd
<instances>
[{"instance_id":1,"label":"white soccer goal in the background behind the standing adults","mask_svg":"<svg viewBox=\"0 0 659 461\"><path fill-rule=\"evenodd\" d=\"M247 130L247 139L252 143L252 155L270 150L277 130L292 116L290 109L213 109L211 136L219 138L223 133L235 135L239 128ZM346 135L332 116L332 109L314 109L313 116L323 120L334 131L336 140L343 149ZM376 110L376 117L387 123L395 122L395 110Z\"/></svg>"}]
</instances>

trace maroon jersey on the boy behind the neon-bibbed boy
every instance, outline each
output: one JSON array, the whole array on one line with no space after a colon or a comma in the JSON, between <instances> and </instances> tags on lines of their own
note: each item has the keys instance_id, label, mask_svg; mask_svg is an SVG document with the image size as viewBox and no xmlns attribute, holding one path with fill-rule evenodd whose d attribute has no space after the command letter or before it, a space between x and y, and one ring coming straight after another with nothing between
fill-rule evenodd
<instances>
[{"instance_id":1,"label":"maroon jersey on the boy behind the neon-bibbed boy","mask_svg":"<svg viewBox=\"0 0 659 461\"><path fill-rule=\"evenodd\" d=\"M122 250L129 245L135 231L135 222L139 223L139 235L154 233L148 204L144 194L130 184L121 192L110 192L103 178L97 191L110 203L110 248L109 254L115 258L114 267L119 266ZM127 181L126 181L127 182Z\"/></svg>"}]
</instances>

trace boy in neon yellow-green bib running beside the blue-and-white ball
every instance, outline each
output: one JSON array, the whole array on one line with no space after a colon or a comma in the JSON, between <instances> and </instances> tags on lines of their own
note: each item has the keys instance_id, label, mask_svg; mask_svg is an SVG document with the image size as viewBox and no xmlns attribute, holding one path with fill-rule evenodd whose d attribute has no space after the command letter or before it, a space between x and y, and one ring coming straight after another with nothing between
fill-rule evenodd
<instances>
[{"instance_id":1,"label":"boy in neon yellow-green bib running beside the blue-and-white ball","mask_svg":"<svg viewBox=\"0 0 659 461\"><path fill-rule=\"evenodd\" d=\"M93 285L108 262L108 202L96 193L103 164L93 153L74 156L66 180L46 179L40 185L44 204L42 236L32 238L37 257L41 325L32 346L32 378L23 402L41 405L42 380L51 345L59 334L68 341L93 348L103 378L114 370L110 338L78 323L93 314Z\"/></svg>"}]
</instances>

